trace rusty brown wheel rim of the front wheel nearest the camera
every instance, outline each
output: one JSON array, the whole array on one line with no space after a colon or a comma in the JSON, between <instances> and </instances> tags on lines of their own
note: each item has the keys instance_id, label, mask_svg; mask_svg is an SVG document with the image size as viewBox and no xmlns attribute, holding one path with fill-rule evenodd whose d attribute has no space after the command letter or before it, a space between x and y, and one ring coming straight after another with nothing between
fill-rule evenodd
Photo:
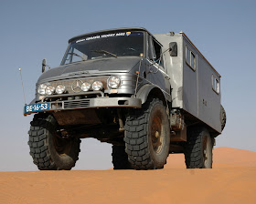
<instances>
[{"instance_id":1,"label":"rusty brown wheel rim of the front wheel nearest the camera","mask_svg":"<svg viewBox=\"0 0 256 204\"><path fill-rule=\"evenodd\" d=\"M163 126L159 116L155 116L153 119L150 137L155 153L159 154L163 148Z\"/></svg>"}]
</instances>

